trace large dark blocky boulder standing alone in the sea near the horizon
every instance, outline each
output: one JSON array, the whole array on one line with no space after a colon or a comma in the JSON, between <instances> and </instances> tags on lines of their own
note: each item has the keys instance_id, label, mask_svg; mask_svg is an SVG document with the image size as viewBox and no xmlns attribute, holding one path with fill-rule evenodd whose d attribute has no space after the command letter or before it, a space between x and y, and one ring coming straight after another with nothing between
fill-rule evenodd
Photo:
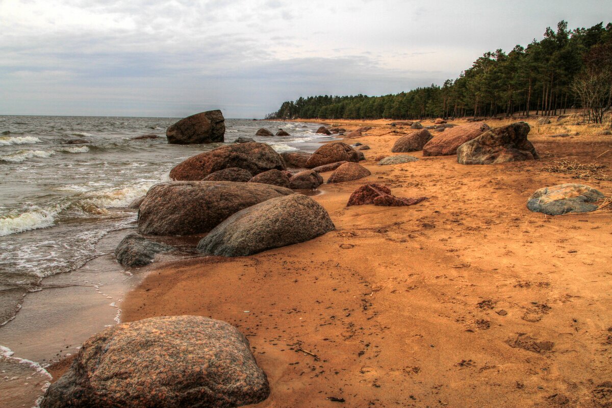
<instances>
[{"instance_id":1,"label":"large dark blocky boulder standing alone in the sea near the horizon","mask_svg":"<svg viewBox=\"0 0 612 408\"><path fill-rule=\"evenodd\" d=\"M225 118L220 110L196 113L166 129L168 143L193 144L222 142Z\"/></svg>"}]
</instances>

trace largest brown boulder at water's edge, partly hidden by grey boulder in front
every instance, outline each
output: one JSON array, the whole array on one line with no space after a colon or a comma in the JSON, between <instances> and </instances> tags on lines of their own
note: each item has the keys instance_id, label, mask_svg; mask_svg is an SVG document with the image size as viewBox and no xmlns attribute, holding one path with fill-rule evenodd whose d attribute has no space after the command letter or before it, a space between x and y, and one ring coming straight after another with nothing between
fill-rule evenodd
<instances>
[{"instance_id":1,"label":"largest brown boulder at water's edge, partly hidden by grey boulder in front","mask_svg":"<svg viewBox=\"0 0 612 408\"><path fill-rule=\"evenodd\" d=\"M138 210L141 234L182 236L211 231L235 212L293 194L269 184L230 181L175 181L149 189Z\"/></svg>"}]
</instances>

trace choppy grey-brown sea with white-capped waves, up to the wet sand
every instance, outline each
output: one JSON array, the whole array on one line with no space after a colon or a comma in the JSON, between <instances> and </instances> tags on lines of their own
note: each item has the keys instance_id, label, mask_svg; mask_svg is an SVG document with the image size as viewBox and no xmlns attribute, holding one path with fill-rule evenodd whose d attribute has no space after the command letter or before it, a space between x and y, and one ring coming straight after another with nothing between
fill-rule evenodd
<instances>
[{"instance_id":1,"label":"choppy grey-brown sea with white-capped waves, up to the wet sand","mask_svg":"<svg viewBox=\"0 0 612 408\"><path fill-rule=\"evenodd\" d=\"M45 276L81 267L95 243L136 219L127 206L184 158L220 146L166 143L176 118L0 116L0 325ZM259 127L292 136L254 136ZM226 120L225 140L314 150L317 125ZM135 140L145 134L159 139ZM67 144L71 139L88 143Z\"/></svg>"}]
</instances>

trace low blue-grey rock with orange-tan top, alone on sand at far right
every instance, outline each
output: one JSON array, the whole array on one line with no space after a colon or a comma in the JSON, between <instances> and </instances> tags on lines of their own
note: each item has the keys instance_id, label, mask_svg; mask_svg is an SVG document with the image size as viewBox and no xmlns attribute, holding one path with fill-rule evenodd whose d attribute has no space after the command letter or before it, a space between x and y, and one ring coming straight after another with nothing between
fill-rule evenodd
<instances>
[{"instance_id":1,"label":"low blue-grey rock with orange-tan top, alone on sand at far right","mask_svg":"<svg viewBox=\"0 0 612 408\"><path fill-rule=\"evenodd\" d=\"M569 212L589 212L599 206L597 201L605 198L599 190L584 184L559 184L535 191L527 201L527 208L548 215Z\"/></svg>"}]
</instances>

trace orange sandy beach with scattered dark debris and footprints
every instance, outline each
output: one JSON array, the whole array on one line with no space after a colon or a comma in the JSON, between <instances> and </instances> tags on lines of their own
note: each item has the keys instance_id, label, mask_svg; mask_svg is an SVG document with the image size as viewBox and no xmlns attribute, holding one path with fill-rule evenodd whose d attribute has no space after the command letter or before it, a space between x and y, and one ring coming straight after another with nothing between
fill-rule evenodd
<instances>
[{"instance_id":1,"label":"orange sandy beach with scattered dark debris and footprints","mask_svg":"<svg viewBox=\"0 0 612 408\"><path fill-rule=\"evenodd\" d=\"M409 129L329 122L374 127L346 141L371 147L371 176L313 196L335 231L254 256L160 264L127 295L122 321L190 314L235 325L270 381L258 407L610 406L610 214L526 208L535 190L564 182L610 195L611 181L544 171L598 156L611 166L610 136L581 127L550 138L554 122L529 122L542 159L485 166L421 152L379 166ZM428 200L346 207L372 182Z\"/></svg>"}]
</instances>

